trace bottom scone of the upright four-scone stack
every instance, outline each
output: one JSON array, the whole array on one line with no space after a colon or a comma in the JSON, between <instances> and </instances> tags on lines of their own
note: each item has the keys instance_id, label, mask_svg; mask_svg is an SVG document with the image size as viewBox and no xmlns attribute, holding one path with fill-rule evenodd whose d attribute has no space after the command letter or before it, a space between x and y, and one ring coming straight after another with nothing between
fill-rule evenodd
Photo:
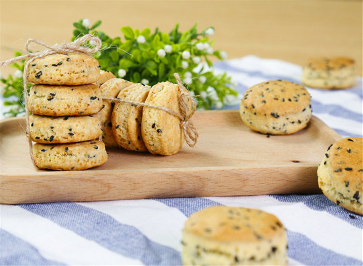
<instances>
[{"instance_id":1,"label":"bottom scone of the upright four-scone stack","mask_svg":"<svg viewBox=\"0 0 363 266\"><path fill-rule=\"evenodd\" d=\"M33 145L34 163L40 169L85 170L107 161L105 144L91 140L67 144Z\"/></svg>"}]
</instances>

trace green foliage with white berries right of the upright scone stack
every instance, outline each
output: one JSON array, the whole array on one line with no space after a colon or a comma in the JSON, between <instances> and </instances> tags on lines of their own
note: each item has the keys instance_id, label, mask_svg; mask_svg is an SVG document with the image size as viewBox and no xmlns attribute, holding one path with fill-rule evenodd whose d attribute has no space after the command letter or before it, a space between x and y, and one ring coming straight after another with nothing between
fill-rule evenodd
<instances>
[{"instance_id":1,"label":"green foliage with white berries right of the upright scone stack","mask_svg":"<svg viewBox=\"0 0 363 266\"><path fill-rule=\"evenodd\" d=\"M197 98L197 107L204 109L213 105L222 108L238 95L226 73L212 72L210 57L223 60L227 56L224 51L213 50L213 41L209 40L214 33L212 27L198 32L197 25L194 25L190 30L181 32L179 24L176 24L169 33L158 29L152 33L148 28L140 31L122 27L122 40L95 30L101 25L100 20L92 26L88 19L81 19L73 25L72 40L88 33L101 39L102 48L93 56L98 59L101 69L117 77L152 86L166 80L175 83L173 74L178 73L187 89Z\"/></svg>"}]
</instances>

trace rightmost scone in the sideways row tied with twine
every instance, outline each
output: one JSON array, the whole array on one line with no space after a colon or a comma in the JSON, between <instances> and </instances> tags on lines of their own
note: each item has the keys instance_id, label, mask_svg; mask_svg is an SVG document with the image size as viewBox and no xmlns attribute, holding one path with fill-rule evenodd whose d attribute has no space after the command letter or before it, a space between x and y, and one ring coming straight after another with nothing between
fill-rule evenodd
<instances>
[{"instance_id":1,"label":"rightmost scone in the sideways row tied with twine","mask_svg":"<svg viewBox=\"0 0 363 266\"><path fill-rule=\"evenodd\" d=\"M189 93L185 88L181 89ZM145 104L166 107L180 114L179 95L179 85L160 82L151 87ZM186 105L187 113L192 113L190 99ZM184 142L180 119L167 111L148 106L144 106L142 111L141 134L146 148L152 154L175 154Z\"/></svg>"}]
</instances>

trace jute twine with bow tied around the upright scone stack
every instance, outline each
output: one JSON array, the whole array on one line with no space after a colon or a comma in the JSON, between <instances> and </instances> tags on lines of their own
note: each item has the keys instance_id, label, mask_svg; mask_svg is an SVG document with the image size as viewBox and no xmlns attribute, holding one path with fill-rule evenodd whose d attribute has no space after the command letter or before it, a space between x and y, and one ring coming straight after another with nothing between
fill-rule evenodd
<instances>
[{"instance_id":1,"label":"jute twine with bow tied around the upright scone stack","mask_svg":"<svg viewBox=\"0 0 363 266\"><path fill-rule=\"evenodd\" d=\"M87 41L94 41L96 46L94 48L89 48L87 46L81 46L81 44L83 44ZM46 49L42 50L40 52L32 53L29 50L29 45L31 43L36 43L36 44L42 45L42 46L46 47ZM35 167L37 167L37 166L34 162L33 146L32 146L32 142L31 142L31 138L30 138L29 110L28 110L28 88L27 88L28 77L27 77L27 74L28 74L29 64L32 61L34 61L35 59L42 58L42 57L45 57L48 55L53 55L53 54L83 53L83 54L91 56L92 53L97 52L101 48L101 46L102 46L101 40L98 37L93 36L91 34L86 34L83 37L76 39L72 43L55 44L53 46L49 46L48 44L45 44L45 43L40 42L35 39L28 39L28 41L25 44L25 50L27 53L26 55L18 56L13 59L9 59L9 60L0 62L0 67L3 67L3 66L13 64L20 60L29 59L29 60L25 61L25 63L24 63L24 71L23 71L24 92L23 93L24 93L24 101L25 101L24 108L25 108L25 118L26 118L26 132L27 132L29 148L30 148L30 158L31 158L31 161L33 162L33 164L35 165Z\"/></svg>"}]
</instances>

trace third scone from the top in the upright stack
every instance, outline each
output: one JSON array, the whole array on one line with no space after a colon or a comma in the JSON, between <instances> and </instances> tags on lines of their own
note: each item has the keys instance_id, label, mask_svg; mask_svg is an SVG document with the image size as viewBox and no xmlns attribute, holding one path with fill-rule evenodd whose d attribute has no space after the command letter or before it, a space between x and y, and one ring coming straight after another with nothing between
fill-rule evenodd
<instances>
[{"instance_id":1,"label":"third scone from the top in the upright stack","mask_svg":"<svg viewBox=\"0 0 363 266\"><path fill-rule=\"evenodd\" d=\"M98 115L46 117L31 115L30 138L37 143L70 143L91 140L102 134Z\"/></svg>"}]
</instances>

